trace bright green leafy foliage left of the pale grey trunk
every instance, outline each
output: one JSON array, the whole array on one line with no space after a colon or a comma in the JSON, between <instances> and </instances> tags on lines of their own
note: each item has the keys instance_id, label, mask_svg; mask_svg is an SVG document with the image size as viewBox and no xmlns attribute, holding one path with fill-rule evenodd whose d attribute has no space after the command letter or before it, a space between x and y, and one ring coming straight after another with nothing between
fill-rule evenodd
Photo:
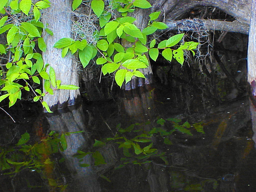
<instances>
[{"instance_id":1,"label":"bright green leafy foliage left of the pale grey trunk","mask_svg":"<svg viewBox=\"0 0 256 192\"><path fill-rule=\"evenodd\" d=\"M78 2L76 3L78 4ZM43 30L53 35L52 31L45 28L43 23L40 22L40 11L48 7L50 7L48 0L39 0L35 4L31 0L0 1L0 11L5 13L5 15L1 15L3 17L0 19L0 34L6 33L7 40L6 45L0 44L0 54L1 57L6 58L5 67L7 69L4 75L2 70L0 73L2 94L0 102L9 98L9 107L14 105L18 99L21 99L21 90L24 89L25 91L32 91L35 95L33 101L40 101L46 110L51 113L47 103L43 102L43 97L46 94L53 94L50 84L54 89L78 89L74 85L60 85L60 82L56 81L54 69L49 64L44 64L41 54L34 49L35 46L38 46L40 51L46 51L45 41L41 37ZM9 10L11 12L8 12ZM27 20L23 14L28 16ZM73 39L63 38L55 44L55 47L64 49L68 47L67 50L63 51L62 56L64 57L74 42ZM72 52L76 49L83 50L87 46L86 40L79 41L76 44L74 48L70 48L70 50L73 48ZM10 59L7 56L9 54L12 56ZM49 73L46 72L47 68L50 68ZM34 88L30 85L31 82L41 83L38 77L45 79L46 93L42 93L39 89L32 90ZM25 82L21 83L19 79L23 79ZM31 81L29 81L30 79ZM56 87L56 85L58 86Z\"/></svg>"}]
</instances>

